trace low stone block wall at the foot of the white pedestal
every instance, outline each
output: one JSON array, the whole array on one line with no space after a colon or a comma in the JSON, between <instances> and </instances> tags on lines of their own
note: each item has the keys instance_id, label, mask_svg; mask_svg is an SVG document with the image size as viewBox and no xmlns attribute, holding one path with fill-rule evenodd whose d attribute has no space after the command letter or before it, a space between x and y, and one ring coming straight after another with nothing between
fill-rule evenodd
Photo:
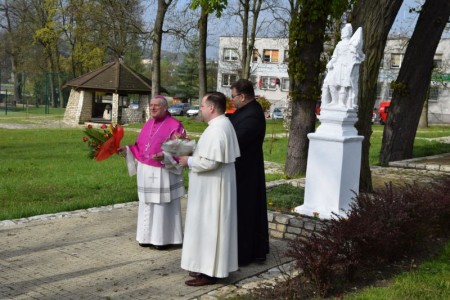
<instances>
[{"instance_id":1,"label":"low stone block wall at the foot of the white pedestal","mask_svg":"<svg viewBox=\"0 0 450 300\"><path fill-rule=\"evenodd\" d=\"M269 211L269 236L277 239L293 240L297 236L308 237L320 229L325 220L304 215L288 215Z\"/></svg>"}]
</instances>

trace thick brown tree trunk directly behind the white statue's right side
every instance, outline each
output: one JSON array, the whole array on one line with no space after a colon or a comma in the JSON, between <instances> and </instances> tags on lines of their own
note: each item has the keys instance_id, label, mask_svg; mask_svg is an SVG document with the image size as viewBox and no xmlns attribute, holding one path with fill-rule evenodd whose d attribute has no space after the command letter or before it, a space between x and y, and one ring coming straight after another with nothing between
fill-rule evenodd
<instances>
[{"instance_id":1,"label":"thick brown tree trunk directly behind the white statue's right side","mask_svg":"<svg viewBox=\"0 0 450 300\"><path fill-rule=\"evenodd\" d=\"M355 124L358 134L364 136L361 153L360 192L371 192L373 189L369 149L378 72L389 30L402 2L402 0L360 0L355 4L352 12L354 30L359 27L363 28L363 52L366 55L366 59L360 67L358 122Z\"/></svg>"}]
</instances>

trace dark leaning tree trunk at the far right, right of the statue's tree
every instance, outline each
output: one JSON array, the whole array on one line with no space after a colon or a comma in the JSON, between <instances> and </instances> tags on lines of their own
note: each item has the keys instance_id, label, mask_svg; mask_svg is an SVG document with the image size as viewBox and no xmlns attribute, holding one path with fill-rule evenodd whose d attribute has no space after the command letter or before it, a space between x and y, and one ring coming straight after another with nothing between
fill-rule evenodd
<instances>
[{"instance_id":1,"label":"dark leaning tree trunk at the far right, right of the statue's tree","mask_svg":"<svg viewBox=\"0 0 450 300\"><path fill-rule=\"evenodd\" d=\"M427 0L394 84L380 163L412 158L414 139L433 72L433 57L450 16L448 0Z\"/></svg>"}]
</instances>

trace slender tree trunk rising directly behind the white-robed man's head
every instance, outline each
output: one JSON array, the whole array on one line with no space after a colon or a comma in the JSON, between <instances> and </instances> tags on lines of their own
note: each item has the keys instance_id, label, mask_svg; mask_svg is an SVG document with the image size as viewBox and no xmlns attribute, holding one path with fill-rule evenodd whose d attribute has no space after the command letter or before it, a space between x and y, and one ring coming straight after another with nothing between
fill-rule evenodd
<instances>
[{"instance_id":1,"label":"slender tree trunk rising directly behind the white-robed man's head","mask_svg":"<svg viewBox=\"0 0 450 300\"><path fill-rule=\"evenodd\" d=\"M208 10L202 6L199 29L199 52L198 52L198 99L201 100L207 91L206 81L206 41L208 37Z\"/></svg>"}]
</instances>

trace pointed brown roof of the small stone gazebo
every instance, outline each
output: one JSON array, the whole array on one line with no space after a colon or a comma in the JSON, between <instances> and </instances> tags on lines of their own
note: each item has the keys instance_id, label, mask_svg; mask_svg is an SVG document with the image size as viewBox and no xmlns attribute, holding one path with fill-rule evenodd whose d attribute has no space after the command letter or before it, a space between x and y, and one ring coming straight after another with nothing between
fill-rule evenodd
<instances>
[{"instance_id":1,"label":"pointed brown roof of the small stone gazebo","mask_svg":"<svg viewBox=\"0 0 450 300\"><path fill-rule=\"evenodd\" d=\"M152 82L134 72L119 60L68 81L65 86L75 89L99 90L114 93L150 94ZM167 92L160 87L161 92Z\"/></svg>"}]
</instances>

